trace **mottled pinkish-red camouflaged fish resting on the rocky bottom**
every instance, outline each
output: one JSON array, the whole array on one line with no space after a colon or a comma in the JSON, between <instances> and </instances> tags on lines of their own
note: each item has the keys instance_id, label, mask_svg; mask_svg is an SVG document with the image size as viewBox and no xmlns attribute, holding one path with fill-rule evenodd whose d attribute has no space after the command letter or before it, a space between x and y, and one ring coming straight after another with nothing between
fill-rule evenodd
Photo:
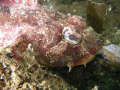
<instances>
[{"instance_id":1,"label":"mottled pinkish-red camouflaged fish resting on the rocky bottom","mask_svg":"<svg viewBox=\"0 0 120 90\"><path fill-rule=\"evenodd\" d=\"M73 67L85 65L99 52L102 41L85 29L82 17L31 1L0 1L0 53L6 49L17 61L29 58L44 66Z\"/></svg>"}]
</instances>

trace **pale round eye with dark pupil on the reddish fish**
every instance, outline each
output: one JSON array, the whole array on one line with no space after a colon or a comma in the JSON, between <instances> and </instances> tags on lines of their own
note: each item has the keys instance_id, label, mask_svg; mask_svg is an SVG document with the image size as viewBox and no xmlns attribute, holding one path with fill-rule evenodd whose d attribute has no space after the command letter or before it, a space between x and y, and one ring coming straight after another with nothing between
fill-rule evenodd
<instances>
[{"instance_id":1,"label":"pale round eye with dark pupil on the reddish fish","mask_svg":"<svg viewBox=\"0 0 120 90\"><path fill-rule=\"evenodd\" d=\"M63 37L69 44L78 44L81 41L81 34L68 27L64 27Z\"/></svg>"}]
</instances>

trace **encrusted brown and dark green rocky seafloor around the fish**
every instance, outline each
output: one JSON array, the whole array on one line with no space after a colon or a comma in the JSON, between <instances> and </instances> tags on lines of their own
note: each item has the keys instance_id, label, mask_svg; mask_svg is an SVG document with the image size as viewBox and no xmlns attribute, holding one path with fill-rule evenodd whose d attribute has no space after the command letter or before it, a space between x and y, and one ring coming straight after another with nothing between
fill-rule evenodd
<instances>
[{"instance_id":1,"label":"encrusted brown and dark green rocky seafloor around the fish","mask_svg":"<svg viewBox=\"0 0 120 90\"><path fill-rule=\"evenodd\" d=\"M49 1L51 2L43 0L40 3L53 6L66 14L86 18L86 0ZM103 2L107 7L105 31L102 34L104 45L120 46L120 1L92 1ZM42 67L34 60L21 64L9 54L0 55L0 61L0 89L3 90L119 90L120 88L120 64L110 62L102 55L97 55L86 67L72 68L71 72L68 71L68 67Z\"/></svg>"}]
</instances>

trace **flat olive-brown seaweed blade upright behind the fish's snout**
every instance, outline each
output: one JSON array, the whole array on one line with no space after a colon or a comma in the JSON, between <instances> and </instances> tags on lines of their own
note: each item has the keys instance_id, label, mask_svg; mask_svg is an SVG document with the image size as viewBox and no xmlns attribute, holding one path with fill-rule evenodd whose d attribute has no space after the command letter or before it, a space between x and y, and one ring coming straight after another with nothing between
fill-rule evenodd
<instances>
[{"instance_id":1,"label":"flat olive-brown seaweed blade upright behind the fish's snout","mask_svg":"<svg viewBox=\"0 0 120 90\"><path fill-rule=\"evenodd\" d=\"M94 3L88 1L87 25L91 26L97 33L104 31L103 23L106 16L106 6L104 3Z\"/></svg>"}]
</instances>

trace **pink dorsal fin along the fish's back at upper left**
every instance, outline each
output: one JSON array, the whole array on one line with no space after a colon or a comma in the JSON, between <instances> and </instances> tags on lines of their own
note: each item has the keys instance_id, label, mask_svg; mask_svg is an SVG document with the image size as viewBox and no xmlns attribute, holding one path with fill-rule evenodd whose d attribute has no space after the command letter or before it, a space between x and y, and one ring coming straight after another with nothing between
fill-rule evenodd
<instances>
[{"instance_id":1,"label":"pink dorsal fin along the fish's back at upper left","mask_svg":"<svg viewBox=\"0 0 120 90\"><path fill-rule=\"evenodd\" d=\"M20 4L37 7L38 0L0 0L0 6L17 7Z\"/></svg>"}]
</instances>

